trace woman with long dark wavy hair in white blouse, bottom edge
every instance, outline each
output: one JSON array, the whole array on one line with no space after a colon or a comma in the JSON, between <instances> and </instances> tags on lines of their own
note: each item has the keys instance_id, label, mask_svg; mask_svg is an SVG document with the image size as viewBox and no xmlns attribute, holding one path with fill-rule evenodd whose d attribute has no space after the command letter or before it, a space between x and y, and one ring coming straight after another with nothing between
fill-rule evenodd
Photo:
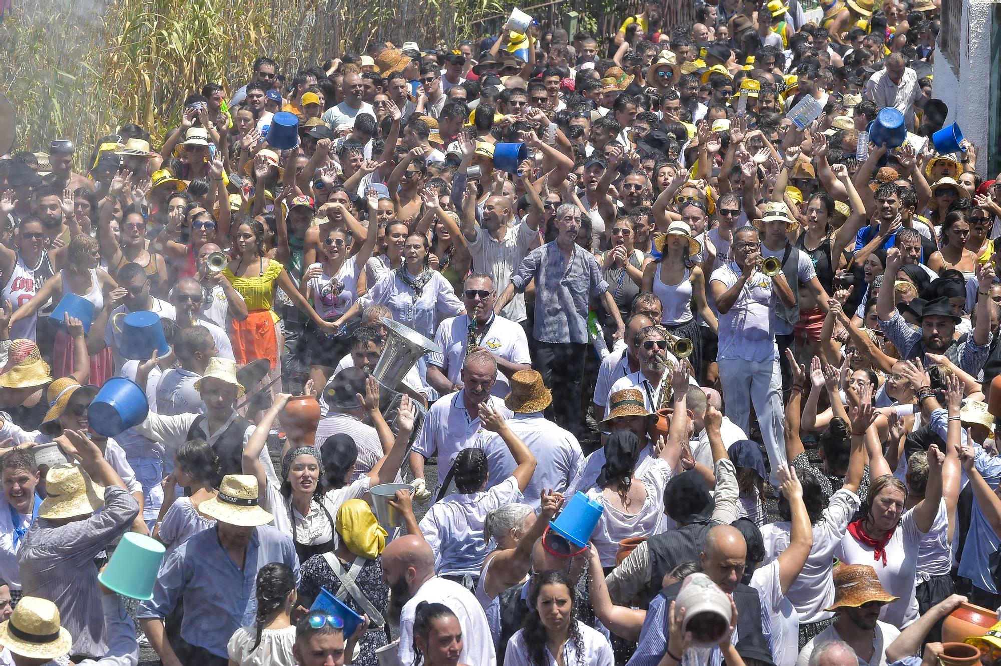
<instances>
[{"instance_id":1,"label":"woman with long dark wavy hair in white blouse, bottom edge","mask_svg":"<svg viewBox=\"0 0 1001 666\"><path fill-rule=\"evenodd\" d=\"M525 628L508 641L505 666L612 666L604 635L574 619L577 592L563 571L533 577ZM559 655L559 659L555 656Z\"/></svg>"}]
</instances>

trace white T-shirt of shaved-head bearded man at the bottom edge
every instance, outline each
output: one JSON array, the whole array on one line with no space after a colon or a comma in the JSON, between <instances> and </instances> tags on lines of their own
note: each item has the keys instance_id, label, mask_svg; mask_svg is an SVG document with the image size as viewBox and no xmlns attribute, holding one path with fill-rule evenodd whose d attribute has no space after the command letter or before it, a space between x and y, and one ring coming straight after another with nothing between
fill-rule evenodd
<instances>
[{"instance_id":1,"label":"white T-shirt of shaved-head bearded man at the bottom edge","mask_svg":"<svg viewBox=\"0 0 1001 666\"><path fill-rule=\"evenodd\" d=\"M486 624L482 606L458 583L435 576L417 590L399 614L399 662L402 666L413 664L413 616L421 601L444 604L458 618L462 630L462 654L459 663L474 666L496 666L493 636ZM611 653L611 650L610 650ZM611 662L610 662L611 663Z\"/></svg>"}]
</instances>

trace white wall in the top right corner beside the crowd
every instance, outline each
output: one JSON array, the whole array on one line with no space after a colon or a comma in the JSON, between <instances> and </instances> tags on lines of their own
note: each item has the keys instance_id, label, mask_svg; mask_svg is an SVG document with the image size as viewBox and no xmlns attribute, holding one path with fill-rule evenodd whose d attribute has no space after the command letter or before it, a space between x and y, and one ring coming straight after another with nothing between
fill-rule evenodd
<instances>
[{"instance_id":1,"label":"white wall in the top right corner beside the crowd","mask_svg":"<svg viewBox=\"0 0 1001 666\"><path fill-rule=\"evenodd\" d=\"M959 2L960 0L948 0ZM963 134L977 146L980 171L987 164L990 140L991 21L990 0L962 0L963 34L959 78L941 51L935 53L933 96L949 105L946 123L959 123Z\"/></svg>"}]
</instances>

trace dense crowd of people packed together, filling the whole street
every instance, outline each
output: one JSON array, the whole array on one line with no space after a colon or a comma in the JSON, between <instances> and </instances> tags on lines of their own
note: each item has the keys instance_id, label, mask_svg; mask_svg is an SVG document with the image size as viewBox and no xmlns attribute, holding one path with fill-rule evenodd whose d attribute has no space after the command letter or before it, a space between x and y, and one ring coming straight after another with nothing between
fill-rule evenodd
<instances>
[{"instance_id":1,"label":"dense crowd of people packed together, filling the whole street","mask_svg":"<svg viewBox=\"0 0 1001 666\"><path fill-rule=\"evenodd\" d=\"M1001 606L1001 175L936 135L939 11L261 56L16 146L0 665L936 664Z\"/></svg>"}]
</instances>

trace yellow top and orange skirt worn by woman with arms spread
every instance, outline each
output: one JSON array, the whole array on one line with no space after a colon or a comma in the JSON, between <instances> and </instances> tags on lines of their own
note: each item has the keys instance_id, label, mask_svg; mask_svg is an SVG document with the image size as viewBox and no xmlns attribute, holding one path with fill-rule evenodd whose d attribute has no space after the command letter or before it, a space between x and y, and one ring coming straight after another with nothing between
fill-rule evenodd
<instances>
[{"instance_id":1,"label":"yellow top and orange skirt worn by woman with arms spread","mask_svg":"<svg viewBox=\"0 0 1001 666\"><path fill-rule=\"evenodd\" d=\"M274 328L277 316L271 311L271 300L274 298L275 283L284 267L274 259L266 261L261 275L237 277L228 266L222 275L243 297L249 312L243 321L229 321L236 362L242 365L266 358L271 362L271 370L274 370L278 366L278 335Z\"/></svg>"}]
</instances>

